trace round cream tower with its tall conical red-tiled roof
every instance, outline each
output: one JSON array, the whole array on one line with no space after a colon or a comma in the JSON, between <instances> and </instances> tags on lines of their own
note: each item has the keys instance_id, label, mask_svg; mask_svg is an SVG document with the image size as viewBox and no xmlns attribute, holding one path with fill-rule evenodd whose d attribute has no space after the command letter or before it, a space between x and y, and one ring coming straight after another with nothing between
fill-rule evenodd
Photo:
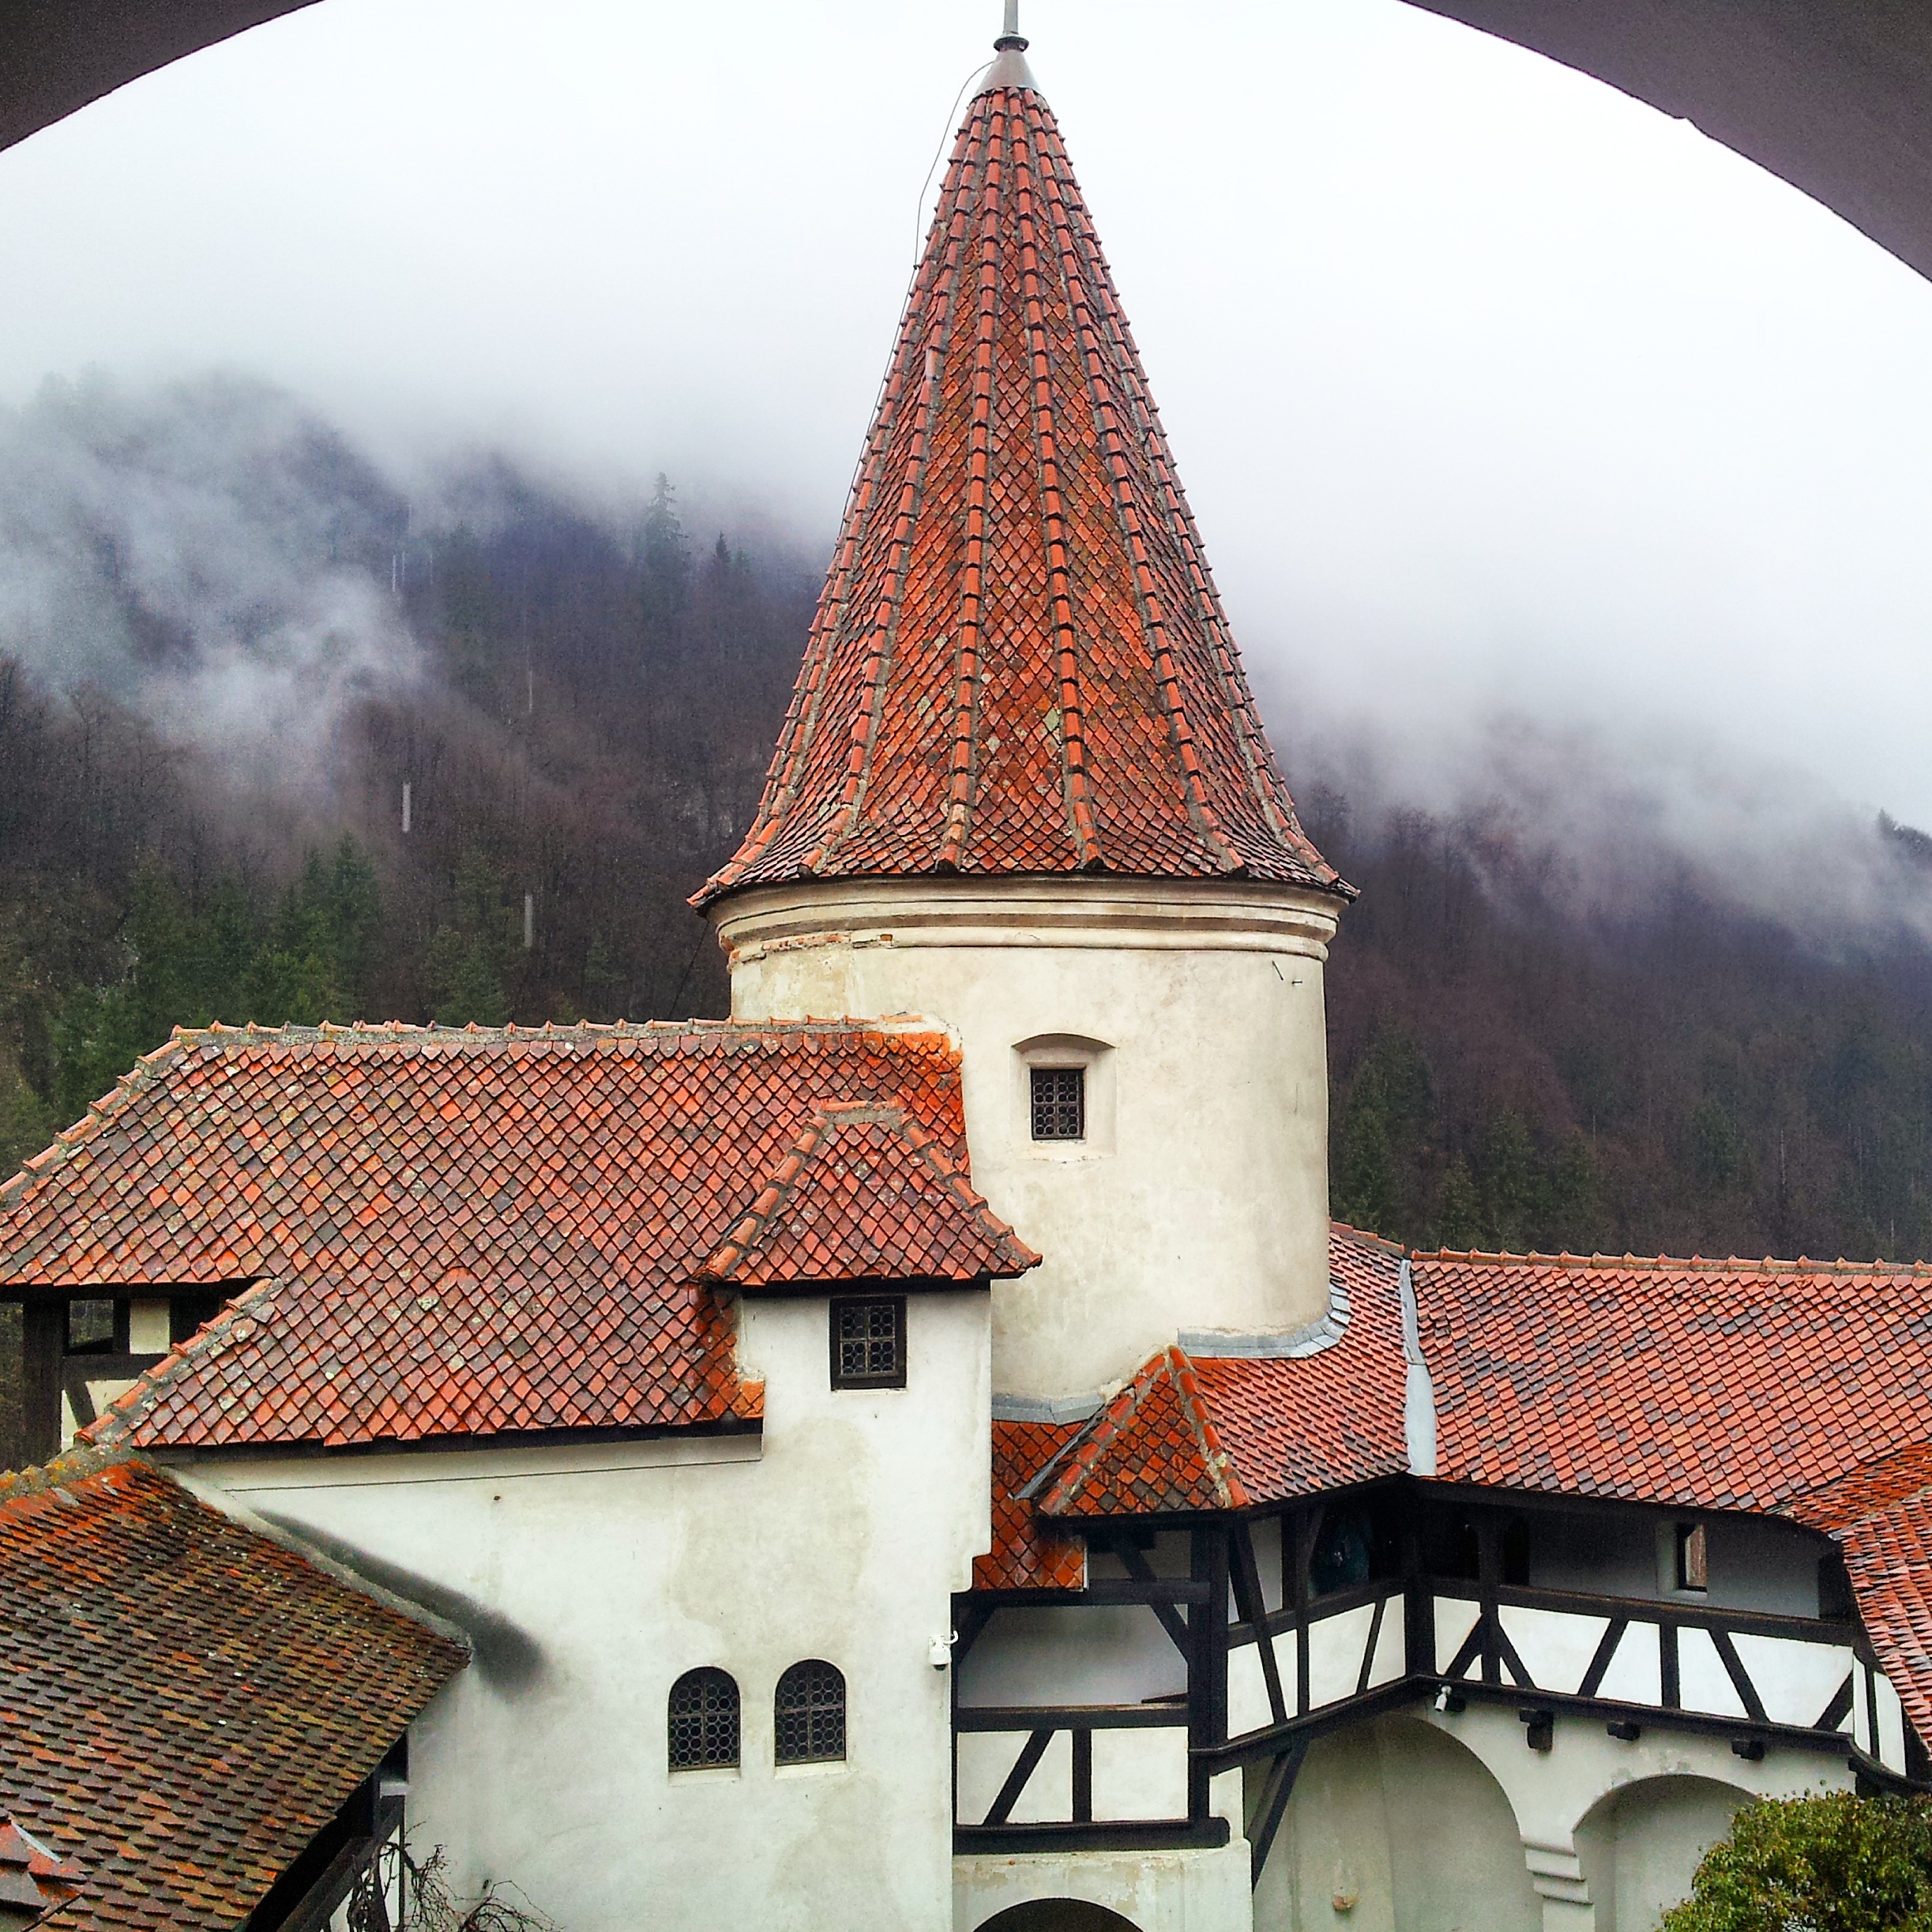
<instances>
[{"instance_id":1,"label":"round cream tower with its tall conical red-tiled roof","mask_svg":"<svg viewBox=\"0 0 1932 1932\"><path fill-rule=\"evenodd\" d=\"M1350 889L1024 48L960 126L757 819L697 902L740 1018L958 1032L976 1180L1047 1258L995 1294L995 1387L1037 1403L1323 1316Z\"/></svg>"}]
</instances>

